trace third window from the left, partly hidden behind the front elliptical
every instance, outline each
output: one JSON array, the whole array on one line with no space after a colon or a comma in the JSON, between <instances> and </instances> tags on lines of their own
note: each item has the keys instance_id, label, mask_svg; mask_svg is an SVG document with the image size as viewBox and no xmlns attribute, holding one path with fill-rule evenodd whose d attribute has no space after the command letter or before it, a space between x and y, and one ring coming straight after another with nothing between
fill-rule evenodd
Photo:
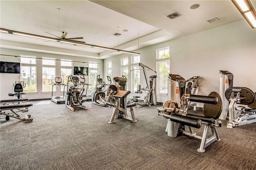
<instances>
[{"instance_id":1,"label":"third window from the left, partly hidden behind the front elliptical","mask_svg":"<svg viewBox=\"0 0 256 170\"><path fill-rule=\"evenodd\" d=\"M61 59L60 61L60 72L61 72L61 78L62 78L62 83L67 84L68 83L68 76L72 75L72 60L68 59ZM64 90L64 86L61 86L61 91Z\"/></svg>"}]
</instances>

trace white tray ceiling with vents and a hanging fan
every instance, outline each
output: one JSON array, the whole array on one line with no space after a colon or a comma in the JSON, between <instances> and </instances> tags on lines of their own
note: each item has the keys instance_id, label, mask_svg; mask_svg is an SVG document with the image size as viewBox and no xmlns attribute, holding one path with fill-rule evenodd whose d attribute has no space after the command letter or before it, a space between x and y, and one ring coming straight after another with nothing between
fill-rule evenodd
<instances>
[{"instance_id":1,"label":"white tray ceiling with vents and a hanging fan","mask_svg":"<svg viewBox=\"0 0 256 170\"><path fill-rule=\"evenodd\" d=\"M251 0L256 6L256 0ZM190 6L200 4L191 10ZM58 10L57 8L61 8ZM180 17L166 16L178 12ZM219 21L208 23L217 17ZM138 51L139 48L201 32L243 17L231 0L0 0L0 27L41 36L83 37L88 44ZM119 27L119 28L118 28ZM123 30L128 32L123 32ZM114 33L122 34L119 37ZM138 34L139 33L139 34ZM138 41L139 36L139 41ZM105 59L119 52L0 34L0 47Z\"/></svg>"}]
</instances>

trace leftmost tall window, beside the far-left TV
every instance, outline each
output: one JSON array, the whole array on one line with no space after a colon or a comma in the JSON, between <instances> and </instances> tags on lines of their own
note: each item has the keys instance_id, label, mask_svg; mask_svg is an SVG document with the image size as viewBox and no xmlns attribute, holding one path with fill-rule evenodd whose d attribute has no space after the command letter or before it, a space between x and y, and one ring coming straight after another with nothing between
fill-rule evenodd
<instances>
[{"instance_id":1,"label":"leftmost tall window, beside the far-left TV","mask_svg":"<svg viewBox=\"0 0 256 170\"><path fill-rule=\"evenodd\" d=\"M36 59L35 56L20 55L20 79L26 83L23 91L36 91ZM30 57L30 58L25 58Z\"/></svg>"}]
</instances>

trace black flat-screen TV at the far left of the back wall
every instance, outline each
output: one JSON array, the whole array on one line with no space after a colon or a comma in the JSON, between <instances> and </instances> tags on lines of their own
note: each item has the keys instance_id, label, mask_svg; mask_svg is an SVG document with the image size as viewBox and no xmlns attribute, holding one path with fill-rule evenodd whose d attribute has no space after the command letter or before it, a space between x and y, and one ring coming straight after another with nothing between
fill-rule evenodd
<instances>
[{"instance_id":1,"label":"black flat-screen TV at the far left of the back wall","mask_svg":"<svg viewBox=\"0 0 256 170\"><path fill-rule=\"evenodd\" d=\"M20 63L0 61L0 73L20 74Z\"/></svg>"}]
</instances>

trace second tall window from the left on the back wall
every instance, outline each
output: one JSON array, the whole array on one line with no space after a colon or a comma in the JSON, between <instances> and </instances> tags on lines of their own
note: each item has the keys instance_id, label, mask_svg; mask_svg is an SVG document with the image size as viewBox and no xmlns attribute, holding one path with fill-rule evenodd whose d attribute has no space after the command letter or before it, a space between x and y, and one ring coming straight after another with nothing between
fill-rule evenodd
<instances>
[{"instance_id":1,"label":"second tall window from the left on the back wall","mask_svg":"<svg viewBox=\"0 0 256 170\"><path fill-rule=\"evenodd\" d=\"M42 65L55 66L55 60L43 57ZM52 85L55 83L55 67L42 67L42 91L52 91ZM54 91L56 86L54 86Z\"/></svg>"}]
</instances>

